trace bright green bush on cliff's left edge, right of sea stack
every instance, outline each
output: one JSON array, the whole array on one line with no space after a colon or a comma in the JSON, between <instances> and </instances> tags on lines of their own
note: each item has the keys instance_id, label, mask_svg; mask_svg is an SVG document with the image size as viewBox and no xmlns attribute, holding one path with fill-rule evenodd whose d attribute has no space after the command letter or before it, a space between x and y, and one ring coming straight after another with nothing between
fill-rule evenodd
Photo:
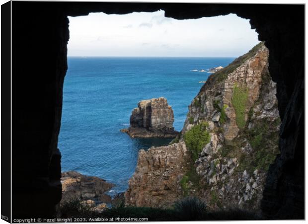
<instances>
[{"instance_id":1,"label":"bright green bush on cliff's left edge, right of sea stack","mask_svg":"<svg viewBox=\"0 0 308 224\"><path fill-rule=\"evenodd\" d=\"M192 159L196 161L202 148L210 142L210 133L206 130L207 122L202 122L193 126L184 134L184 141L187 148L192 153Z\"/></svg>"}]
</instances>

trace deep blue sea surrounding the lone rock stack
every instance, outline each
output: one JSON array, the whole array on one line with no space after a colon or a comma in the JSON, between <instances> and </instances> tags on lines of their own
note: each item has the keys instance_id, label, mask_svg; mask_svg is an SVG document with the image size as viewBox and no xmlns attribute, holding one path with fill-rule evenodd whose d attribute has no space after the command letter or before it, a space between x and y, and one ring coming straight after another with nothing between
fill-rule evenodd
<instances>
[{"instance_id":1,"label":"deep blue sea surrounding the lone rock stack","mask_svg":"<svg viewBox=\"0 0 308 224\"><path fill-rule=\"evenodd\" d=\"M75 170L116 184L123 192L137 164L138 151L170 139L132 139L133 108L141 100L165 97L181 130L188 105L209 73L192 72L227 66L234 58L69 57L64 81L59 148L62 170Z\"/></svg>"}]
</instances>

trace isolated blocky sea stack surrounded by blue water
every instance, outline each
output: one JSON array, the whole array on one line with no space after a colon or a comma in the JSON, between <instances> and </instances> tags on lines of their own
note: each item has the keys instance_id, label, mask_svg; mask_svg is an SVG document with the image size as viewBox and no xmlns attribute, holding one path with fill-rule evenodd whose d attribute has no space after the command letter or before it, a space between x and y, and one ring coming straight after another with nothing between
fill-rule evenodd
<instances>
[{"instance_id":1,"label":"isolated blocky sea stack surrounded by blue water","mask_svg":"<svg viewBox=\"0 0 308 224\"><path fill-rule=\"evenodd\" d=\"M121 129L133 138L174 138L178 134L173 127L171 106L163 97L143 100L130 118L130 127Z\"/></svg>"}]
</instances>

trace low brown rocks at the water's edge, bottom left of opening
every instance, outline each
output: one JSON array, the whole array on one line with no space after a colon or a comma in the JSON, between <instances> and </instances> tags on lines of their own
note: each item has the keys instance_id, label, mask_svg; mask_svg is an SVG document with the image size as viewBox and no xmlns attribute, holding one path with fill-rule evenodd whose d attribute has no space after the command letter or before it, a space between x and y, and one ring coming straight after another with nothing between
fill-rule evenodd
<instances>
[{"instance_id":1,"label":"low brown rocks at the water's edge, bottom left of opening","mask_svg":"<svg viewBox=\"0 0 308 224\"><path fill-rule=\"evenodd\" d=\"M103 208L104 204L111 203L111 197L105 193L114 185L98 177L84 176L76 171L62 173L62 201L72 199L81 200L81 203L90 207Z\"/></svg>"}]
</instances>

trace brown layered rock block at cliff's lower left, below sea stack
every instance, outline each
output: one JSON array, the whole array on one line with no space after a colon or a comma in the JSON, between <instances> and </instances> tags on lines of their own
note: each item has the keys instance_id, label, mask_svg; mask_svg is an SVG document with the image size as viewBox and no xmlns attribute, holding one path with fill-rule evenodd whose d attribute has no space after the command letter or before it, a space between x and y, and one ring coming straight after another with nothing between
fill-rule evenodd
<instances>
[{"instance_id":1,"label":"brown layered rock block at cliff's lower left, below sea stack","mask_svg":"<svg viewBox=\"0 0 308 224\"><path fill-rule=\"evenodd\" d=\"M185 170L186 152L184 142L140 150L136 171L125 192L125 204L165 207L174 203L182 192L179 181Z\"/></svg>"}]
</instances>

